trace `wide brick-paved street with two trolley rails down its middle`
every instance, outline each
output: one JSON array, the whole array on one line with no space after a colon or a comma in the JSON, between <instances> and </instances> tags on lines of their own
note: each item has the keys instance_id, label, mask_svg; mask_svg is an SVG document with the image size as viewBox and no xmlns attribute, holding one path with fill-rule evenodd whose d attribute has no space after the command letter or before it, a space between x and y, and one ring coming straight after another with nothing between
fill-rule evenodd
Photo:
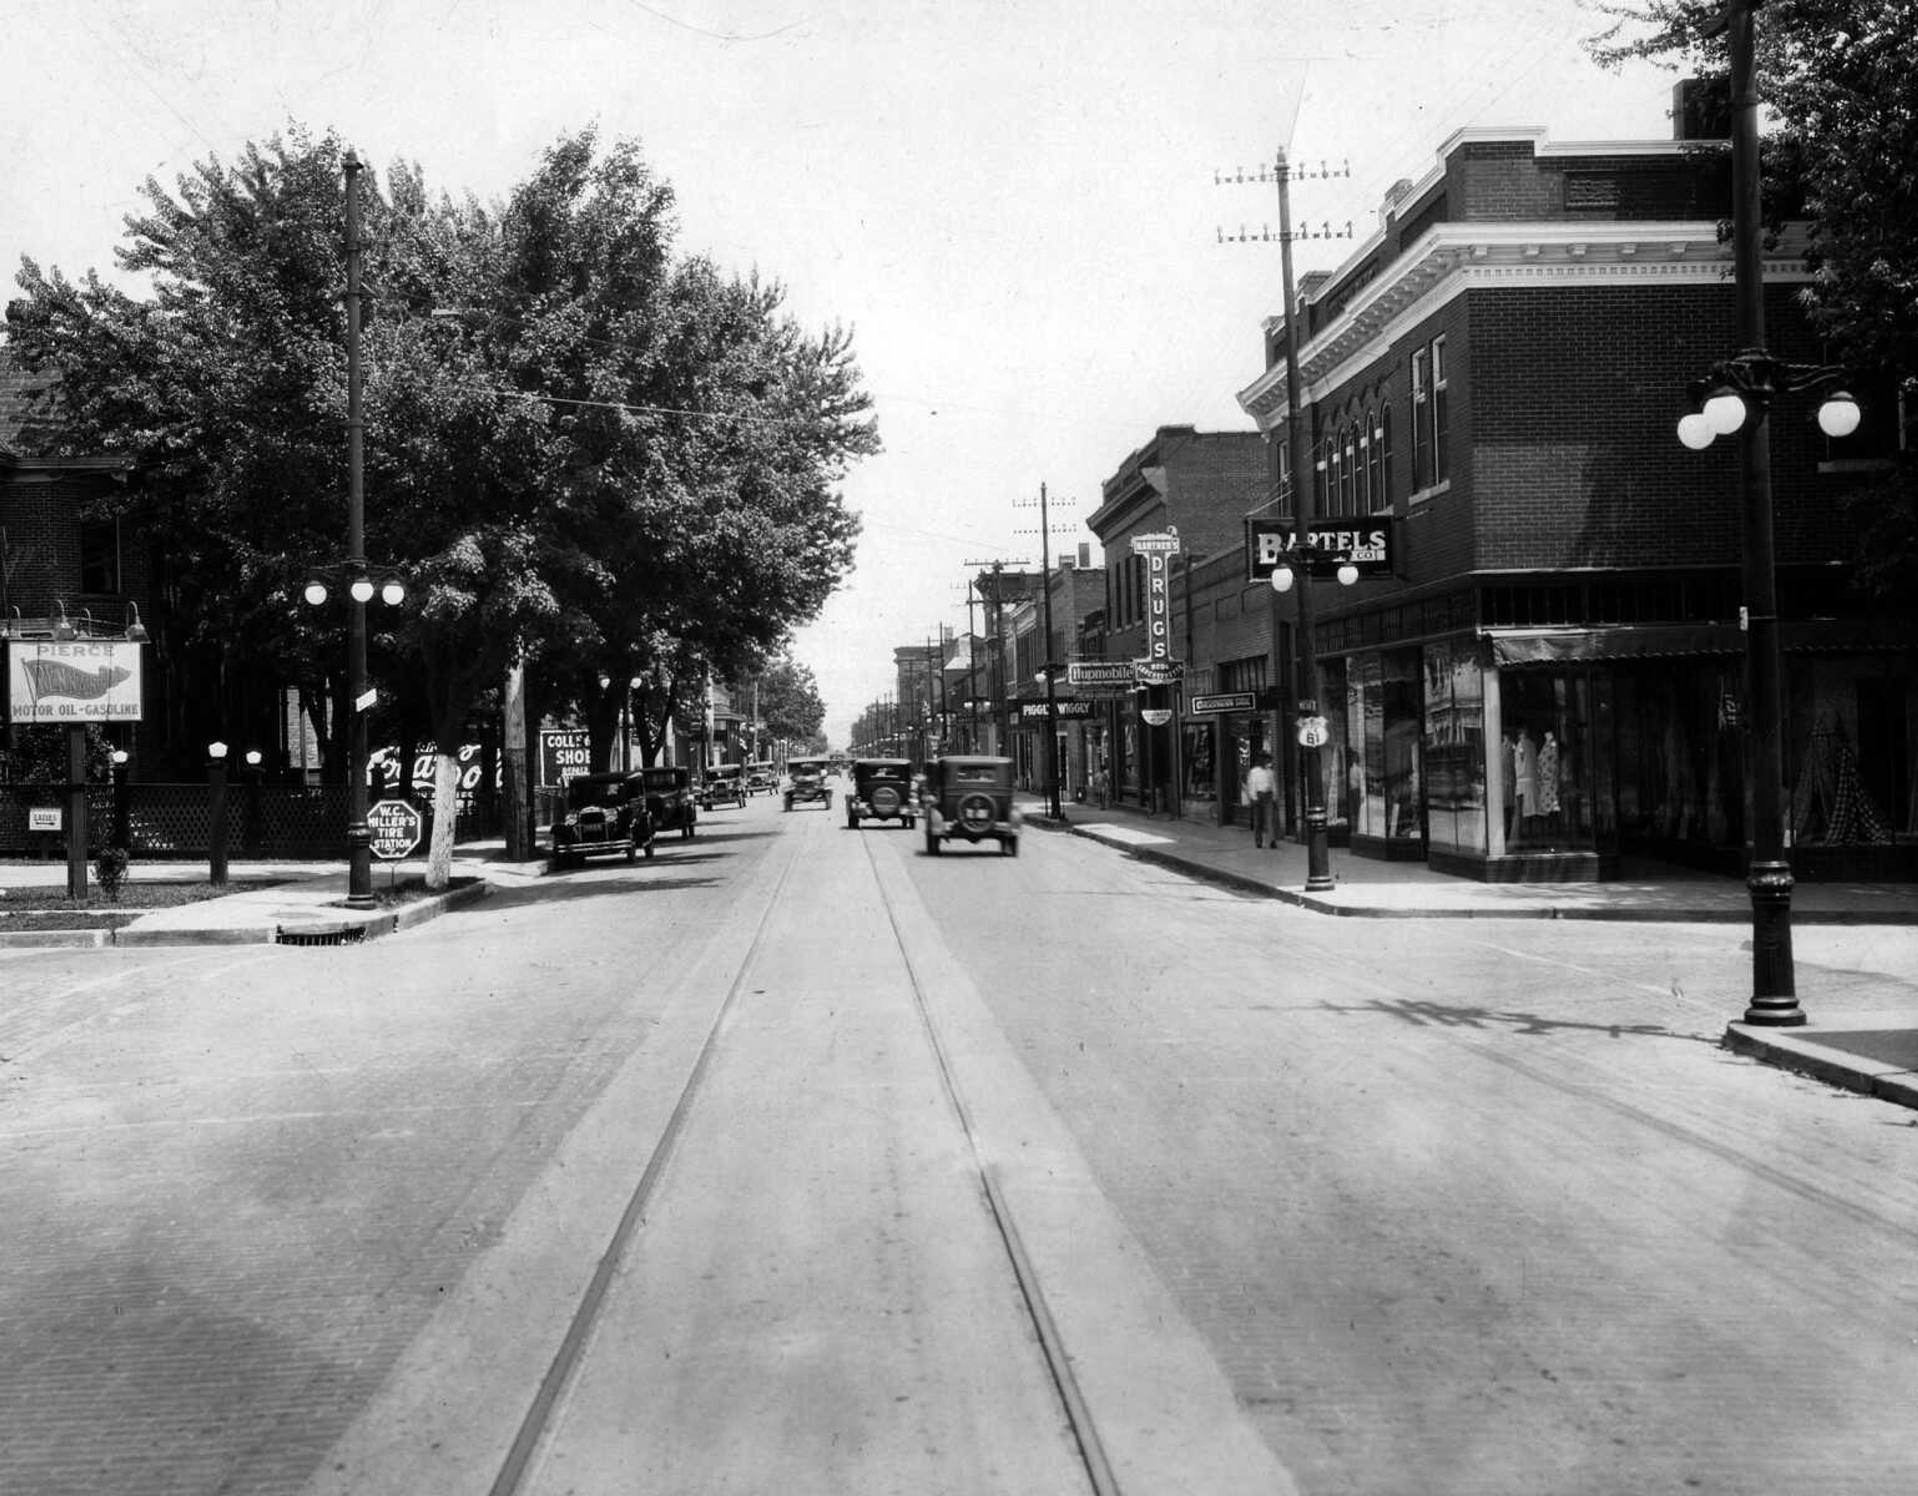
<instances>
[{"instance_id":1,"label":"wide brick-paved street with two trolley rails down its middle","mask_svg":"<svg viewBox=\"0 0 1918 1496\"><path fill-rule=\"evenodd\" d=\"M1799 930L1807 1007L1912 934ZM0 1490L1908 1488L1918 1126L1719 1047L1742 938L752 800L8 951Z\"/></svg>"}]
</instances>

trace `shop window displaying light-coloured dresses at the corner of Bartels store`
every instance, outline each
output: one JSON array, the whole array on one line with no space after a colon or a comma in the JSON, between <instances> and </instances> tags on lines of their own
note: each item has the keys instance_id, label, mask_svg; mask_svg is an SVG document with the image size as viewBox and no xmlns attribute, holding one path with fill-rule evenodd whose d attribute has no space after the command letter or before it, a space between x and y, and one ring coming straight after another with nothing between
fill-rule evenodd
<instances>
[{"instance_id":1,"label":"shop window displaying light-coloured dresses at the corner of Bartels store","mask_svg":"<svg viewBox=\"0 0 1918 1496\"><path fill-rule=\"evenodd\" d=\"M1506 852L1592 848L1590 721L1586 671L1500 675Z\"/></svg>"}]
</instances>

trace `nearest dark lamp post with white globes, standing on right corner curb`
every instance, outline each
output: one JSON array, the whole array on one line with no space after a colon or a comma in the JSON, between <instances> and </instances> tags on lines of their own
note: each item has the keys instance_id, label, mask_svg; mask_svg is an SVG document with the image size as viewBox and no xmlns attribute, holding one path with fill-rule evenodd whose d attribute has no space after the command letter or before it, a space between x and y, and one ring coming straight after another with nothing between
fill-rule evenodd
<instances>
[{"instance_id":1,"label":"nearest dark lamp post with white globes, standing on right corner curb","mask_svg":"<svg viewBox=\"0 0 1918 1496\"><path fill-rule=\"evenodd\" d=\"M1697 451L1717 435L1740 433L1743 487L1745 671L1751 713L1751 1005L1747 1024L1789 1028L1805 1022L1791 967L1791 861L1784 850L1784 767L1778 662L1778 577L1772 539L1770 405L1778 393L1816 389L1839 370L1788 364L1765 349L1765 265L1759 215L1759 90L1753 65L1753 12L1759 0L1730 0L1705 35L1728 33L1732 63L1732 274L1738 286L1740 353L1701 382L1703 409L1678 422L1678 439ZM1837 391L1818 409L1826 435L1859 428L1859 403Z\"/></svg>"}]
</instances>

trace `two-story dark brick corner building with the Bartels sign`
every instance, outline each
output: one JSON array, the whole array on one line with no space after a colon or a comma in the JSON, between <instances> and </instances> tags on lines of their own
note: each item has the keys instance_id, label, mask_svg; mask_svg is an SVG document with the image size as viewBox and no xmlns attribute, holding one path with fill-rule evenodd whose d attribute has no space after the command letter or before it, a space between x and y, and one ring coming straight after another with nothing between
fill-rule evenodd
<instances>
[{"instance_id":1,"label":"two-story dark brick corner building with the Bartels sign","mask_svg":"<svg viewBox=\"0 0 1918 1496\"><path fill-rule=\"evenodd\" d=\"M1463 130L1266 322L1239 403L1270 437L1279 510L1300 478L1295 316L1316 512L1394 539L1391 577L1312 583L1327 804L1358 852L1488 878L1592 877L1625 852L1742 865L1736 453L1674 437L1688 384L1736 351L1728 205L1724 157L1690 142ZM1803 244L1766 247L1766 328L1772 353L1816 362ZM1895 401L1866 401L1843 445L1811 401L1772 414L1801 877L1820 853L1908 871L1918 848L1918 635L1847 591L1839 504L1899 426ZM1297 696L1293 618L1279 600L1277 721ZM1289 733L1281 748L1297 802Z\"/></svg>"}]
</instances>

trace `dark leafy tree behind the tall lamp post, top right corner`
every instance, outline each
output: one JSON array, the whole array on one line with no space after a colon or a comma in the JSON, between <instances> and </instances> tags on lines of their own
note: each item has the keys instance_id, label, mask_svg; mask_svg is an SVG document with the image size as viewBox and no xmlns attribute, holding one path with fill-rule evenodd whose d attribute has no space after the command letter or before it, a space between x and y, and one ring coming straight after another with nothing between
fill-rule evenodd
<instances>
[{"instance_id":1,"label":"dark leafy tree behind the tall lamp post, top right corner","mask_svg":"<svg viewBox=\"0 0 1918 1496\"><path fill-rule=\"evenodd\" d=\"M1728 73L1709 36L1720 0L1602 4L1611 27L1588 42L1602 65L1628 58ZM1791 0L1757 21L1757 88L1776 117L1766 192L1809 221L1814 280L1805 309L1859 393L1893 466L1860 489L1859 577L1882 598L1918 587L1918 466L1899 441L1901 395L1918 393L1918 0Z\"/></svg>"}]
</instances>

